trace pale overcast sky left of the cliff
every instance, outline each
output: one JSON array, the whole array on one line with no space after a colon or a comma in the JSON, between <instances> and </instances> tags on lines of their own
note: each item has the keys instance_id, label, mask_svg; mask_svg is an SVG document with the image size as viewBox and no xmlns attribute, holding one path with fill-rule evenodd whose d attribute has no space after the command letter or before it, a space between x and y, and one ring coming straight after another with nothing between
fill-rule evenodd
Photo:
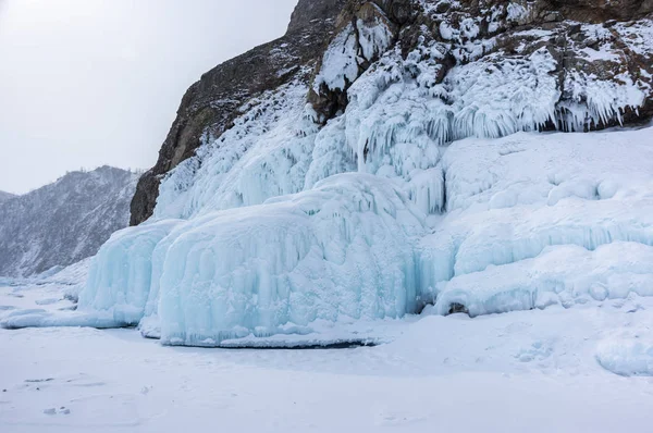
<instances>
[{"instance_id":1,"label":"pale overcast sky left of the cliff","mask_svg":"<svg viewBox=\"0 0 653 433\"><path fill-rule=\"evenodd\" d=\"M283 35L297 0L0 0L0 190L146 169L186 88Z\"/></svg>"}]
</instances>

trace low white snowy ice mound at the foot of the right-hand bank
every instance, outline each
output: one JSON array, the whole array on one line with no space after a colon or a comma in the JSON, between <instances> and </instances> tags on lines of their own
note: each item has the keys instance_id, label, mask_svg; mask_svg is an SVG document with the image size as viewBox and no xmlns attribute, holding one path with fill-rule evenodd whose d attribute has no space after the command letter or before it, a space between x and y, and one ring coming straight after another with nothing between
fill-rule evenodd
<instances>
[{"instance_id":1,"label":"low white snowy ice mound at the foot of the right-hand bank","mask_svg":"<svg viewBox=\"0 0 653 433\"><path fill-rule=\"evenodd\" d=\"M619 258L615 262L615 258ZM613 243L594 251L572 245L549 247L533 259L456 276L438 285L434 312L464 306L470 316L653 296L653 247Z\"/></svg>"}]
</instances>

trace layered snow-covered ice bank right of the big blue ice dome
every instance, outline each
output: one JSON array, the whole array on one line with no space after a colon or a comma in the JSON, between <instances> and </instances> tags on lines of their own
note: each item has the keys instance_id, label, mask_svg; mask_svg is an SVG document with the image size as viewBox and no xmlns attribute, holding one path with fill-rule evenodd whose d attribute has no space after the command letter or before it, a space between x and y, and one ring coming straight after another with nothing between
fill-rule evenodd
<instances>
[{"instance_id":1,"label":"layered snow-covered ice bank right of the big blue ice dome","mask_svg":"<svg viewBox=\"0 0 653 433\"><path fill-rule=\"evenodd\" d=\"M421 290L471 316L653 296L651 128L454 143Z\"/></svg>"}]
</instances>

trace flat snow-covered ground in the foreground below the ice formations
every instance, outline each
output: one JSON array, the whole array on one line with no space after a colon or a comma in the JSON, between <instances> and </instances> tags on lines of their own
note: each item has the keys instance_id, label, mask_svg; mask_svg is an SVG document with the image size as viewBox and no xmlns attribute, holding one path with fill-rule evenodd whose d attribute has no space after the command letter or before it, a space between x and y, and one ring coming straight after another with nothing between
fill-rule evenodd
<instances>
[{"instance_id":1,"label":"flat snow-covered ground in the foreground below the ice formations","mask_svg":"<svg viewBox=\"0 0 653 433\"><path fill-rule=\"evenodd\" d=\"M0 316L70 308L67 288L2 287ZM408 317L359 325L385 344L311 350L164 347L128 329L0 330L0 431L643 432L652 311L652 298L630 296Z\"/></svg>"}]
</instances>

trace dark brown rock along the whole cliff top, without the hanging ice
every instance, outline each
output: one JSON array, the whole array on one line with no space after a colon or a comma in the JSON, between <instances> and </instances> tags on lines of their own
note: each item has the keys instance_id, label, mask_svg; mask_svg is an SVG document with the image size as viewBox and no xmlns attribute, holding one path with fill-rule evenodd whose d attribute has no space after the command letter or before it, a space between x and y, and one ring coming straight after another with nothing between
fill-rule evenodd
<instances>
[{"instance_id":1,"label":"dark brown rock along the whole cliff top, without the hanging ice","mask_svg":"<svg viewBox=\"0 0 653 433\"><path fill-rule=\"evenodd\" d=\"M547 76L555 77L559 98L540 129L590 131L649 119L652 18L653 0L300 0L284 37L225 62L188 89L159 161L138 183L131 223L151 216L162 176L229 129L247 100L295 79L312 83L307 100L324 124L347 107L349 86L391 50L407 59L436 49L438 59L420 60L436 63L429 86L470 63L501 75L514 64L530 67L533 57L551 59ZM381 41L374 39L380 28ZM323 79L328 53L346 50L353 70L343 85L330 84ZM411 74L408 63L405 74ZM599 102L596 83L607 89ZM454 106L455 84L447 86L449 95L441 98ZM618 100L625 86L643 91L643 100Z\"/></svg>"}]
</instances>

